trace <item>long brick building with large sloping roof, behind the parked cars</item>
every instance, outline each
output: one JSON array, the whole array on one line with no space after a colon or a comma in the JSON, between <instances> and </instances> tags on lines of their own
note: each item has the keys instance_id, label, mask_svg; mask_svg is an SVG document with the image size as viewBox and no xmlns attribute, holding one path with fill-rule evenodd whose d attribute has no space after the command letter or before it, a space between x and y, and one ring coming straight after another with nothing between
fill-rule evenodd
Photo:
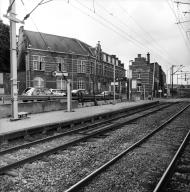
<instances>
[{"instance_id":1,"label":"long brick building with large sloping roof, behind the parked cars","mask_svg":"<svg viewBox=\"0 0 190 192\"><path fill-rule=\"evenodd\" d=\"M54 77L54 71L67 72L73 89L111 90L114 65L116 78L125 77L124 64L103 52L100 42L91 47L74 38L19 30L19 93L30 86L66 89L66 80Z\"/></svg>"}]
</instances>

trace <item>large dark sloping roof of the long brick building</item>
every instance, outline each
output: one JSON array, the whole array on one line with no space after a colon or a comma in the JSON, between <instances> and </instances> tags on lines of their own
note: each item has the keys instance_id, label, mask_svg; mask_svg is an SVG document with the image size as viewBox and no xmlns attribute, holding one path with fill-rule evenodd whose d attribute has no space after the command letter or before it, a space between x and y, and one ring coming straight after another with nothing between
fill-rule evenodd
<instances>
[{"instance_id":1,"label":"large dark sloping roof of the long brick building","mask_svg":"<svg viewBox=\"0 0 190 192\"><path fill-rule=\"evenodd\" d=\"M93 56L93 48L86 43L69 37L62 37L34 31L23 31L31 48Z\"/></svg>"}]
</instances>

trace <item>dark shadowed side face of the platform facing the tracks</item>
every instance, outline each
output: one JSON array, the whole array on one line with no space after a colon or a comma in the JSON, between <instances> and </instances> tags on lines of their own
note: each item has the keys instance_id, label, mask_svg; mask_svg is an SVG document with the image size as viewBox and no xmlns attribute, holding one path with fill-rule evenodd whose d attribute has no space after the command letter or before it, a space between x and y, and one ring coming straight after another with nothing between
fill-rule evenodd
<instances>
[{"instance_id":1,"label":"dark shadowed side face of the platform facing the tracks","mask_svg":"<svg viewBox=\"0 0 190 192\"><path fill-rule=\"evenodd\" d=\"M65 129L72 129L73 127L79 126L81 124L89 124L92 122L97 122L100 119L110 119L112 117L116 117L118 114L125 114L125 115L130 115L133 113L137 113L140 111L143 111L145 109L149 109L151 107L154 107L156 105L164 105L159 102L152 102L151 104L143 104L141 106L137 107L130 107L130 108L124 108L124 109L119 109L117 111L110 111L106 113L100 113L94 116L88 116L80 119L74 119L72 122L71 121L59 121L56 123L49 123L46 125L41 125L41 126L33 126L30 127L29 129L23 129L17 132L13 133L6 133L3 135L0 135L0 144L5 143L7 145L8 141L14 141L18 139L25 139L26 140L34 140L35 136L39 136L40 134L42 137L46 134L54 134L57 132L60 132Z\"/></svg>"}]
</instances>

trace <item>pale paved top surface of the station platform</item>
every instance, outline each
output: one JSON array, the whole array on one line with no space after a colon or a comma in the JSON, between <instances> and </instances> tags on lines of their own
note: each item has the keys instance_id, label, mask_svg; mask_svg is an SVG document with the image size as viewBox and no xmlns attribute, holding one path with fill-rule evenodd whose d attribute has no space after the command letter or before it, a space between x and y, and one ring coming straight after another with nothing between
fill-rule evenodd
<instances>
[{"instance_id":1,"label":"pale paved top surface of the station platform","mask_svg":"<svg viewBox=\"0 0 190 192\"><path fill-rule=\"evenodd\" d=\"M10 118L0 119L0 135L18 130L29 129L39 125L47 125L55 122L64 122L68 120L79 119L83 117L93 116L103 112L109 112L117 109L132 107L143 103L152 102L149 100L136 101L136 102L122 102L99 106L82 107L75 109L74 112L66 111L52 111L39 114L31 114L29 118L18 121L10 121Z\"/></svg>"}]
</instances>

